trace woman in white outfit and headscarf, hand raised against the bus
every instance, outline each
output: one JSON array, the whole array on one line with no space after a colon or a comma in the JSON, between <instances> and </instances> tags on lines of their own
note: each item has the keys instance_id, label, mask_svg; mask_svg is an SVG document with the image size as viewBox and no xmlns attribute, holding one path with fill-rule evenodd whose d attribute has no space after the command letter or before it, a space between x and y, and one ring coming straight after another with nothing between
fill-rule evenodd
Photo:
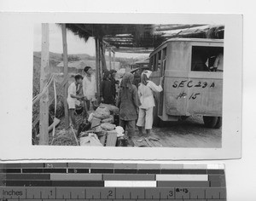
<instances>
[{"instance_id":1,"label":"woman in white outfit and headscarf, hand raised against the bus","mask_svg":"<svg viewBox=\"0 0 256 201\"><path fill-rule=\"evenodd\" d=\"M163 77L160 78L160 85L157 86L155 83L148 80L152 72L143 71L142 82L138 87L138 96L141 101L139 106L139 115L137 120L137 127L139 129L139 135L143 135L143 127L145 127L147 135L150 135L150 130L153 124L153 107L154 105L154 94L153 92L162 91L161 83Z\"/></svg>"}]
</instances>

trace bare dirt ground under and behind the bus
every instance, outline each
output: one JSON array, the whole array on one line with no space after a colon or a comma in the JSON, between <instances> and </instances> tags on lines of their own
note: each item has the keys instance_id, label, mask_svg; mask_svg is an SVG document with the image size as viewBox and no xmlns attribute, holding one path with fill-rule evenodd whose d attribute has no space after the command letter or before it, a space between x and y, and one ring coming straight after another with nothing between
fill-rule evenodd
<instances>
[{"instance_id":1,"label":"bare dirt ground under and behind the bus","mask_svg":"<svg viewBox=\"0 0 256 201\"><path fill-rule=\"evenodd\" d=\"M189 117L183 121L164 123L161 128L153 128L150 136L160 139L163 147L220 148L222 129L209 129L201 117ZM135 142L142 139L137 135L133 137Z\"/></svg>"}]
</instances>

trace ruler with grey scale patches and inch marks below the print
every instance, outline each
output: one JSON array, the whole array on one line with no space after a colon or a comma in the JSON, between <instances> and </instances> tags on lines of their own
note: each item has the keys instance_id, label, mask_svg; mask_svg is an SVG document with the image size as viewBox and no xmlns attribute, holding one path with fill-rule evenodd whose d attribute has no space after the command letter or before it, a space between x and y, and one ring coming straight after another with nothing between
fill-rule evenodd
<instances>
[{"instance_id":1,"label":"ruler with grey scale patches and inch marks below the print","mask_svg":"<svg viewBox=\"0 0 256 201\"><path fill-rule=\"evenodd\" d=\"M0 164L0 200L226 200L224 164Z\"/></svg>"}]
</instances>

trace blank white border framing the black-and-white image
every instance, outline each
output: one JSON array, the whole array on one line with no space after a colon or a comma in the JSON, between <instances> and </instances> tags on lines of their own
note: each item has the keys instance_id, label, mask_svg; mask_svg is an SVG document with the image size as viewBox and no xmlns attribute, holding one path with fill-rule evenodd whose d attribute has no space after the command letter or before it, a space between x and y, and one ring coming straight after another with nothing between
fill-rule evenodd
<instances>
[{"instance_id":1,"label":"blank white border framing the black-and-white image","mask_svg":"<svg viewBox=\"0 0 256 201\"><path fill-rule=\"evenodd\" d=\"M242 14L1 13L0 159L194 160L241 158ZM224 25L222 148L32 146L33 26L38 23ZM61 36L60 36L61 37ZM13 56L15 55L15 59ZM11 79L10 79L11 78Z\"/></svg>"}]
</instances>

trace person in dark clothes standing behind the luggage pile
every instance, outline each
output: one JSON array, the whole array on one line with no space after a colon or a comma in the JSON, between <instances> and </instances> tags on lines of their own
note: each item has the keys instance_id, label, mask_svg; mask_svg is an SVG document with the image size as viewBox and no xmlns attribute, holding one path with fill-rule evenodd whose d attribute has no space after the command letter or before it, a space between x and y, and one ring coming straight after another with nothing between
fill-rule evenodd
<instances>
[{"instance_id":1,"label":"person in dark clothes standing behind the luggage pile","mask_svg":"<svg viewBox=\"0 0 256 201\"><path fill-rule=\"evenodd\" d=\"M108 71L104 72L103 75L103 80L101 83L101 97L103 103L113 104L113 89L111 75Z\"/></svg>"}]
</instances>

